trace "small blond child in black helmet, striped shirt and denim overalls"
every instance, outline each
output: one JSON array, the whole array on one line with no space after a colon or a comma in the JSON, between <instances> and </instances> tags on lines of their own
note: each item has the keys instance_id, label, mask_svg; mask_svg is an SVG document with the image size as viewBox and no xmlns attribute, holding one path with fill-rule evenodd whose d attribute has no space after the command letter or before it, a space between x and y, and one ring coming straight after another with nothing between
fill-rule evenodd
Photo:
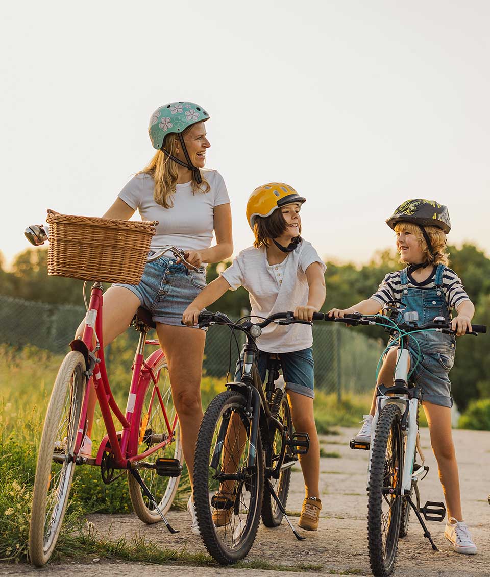
<instances>
[{"instance_id":1,"label":"small blond child in black helmet, striped shirt and denim overalls","mask_svg":"<svg viewBox=\"0 0 490 577\"><path fill-rule=\"evenodd\" d=\"M375 314L380 306L398 300L404 302L406 310L419 313L420 324L442 316L446 321L451 321L458 336L471 331L473 303L457 274L447 267L446 234L451 230L447 207L423 198L408 200L386 222L397 234L400 260L407 267L387 274L378 291L370 298L348 309L331 309L329 316L343 317L353 312ZM453 308L457 310L457 316L451 320ZM412 339L410 341L413 343ZM415 366L419 347L413 343L412 348L410 341L410 365ZM421 389L421 403L427 416L431 445L438 461L439 478L446 499L448 522L444 535L458 553L476 553L476 545L462 520L458 464L451 436L450 411L453 399L450 396L448 373L454 364L455 338L440 332L426 331L417 334L417 341L421 358L413 378ZM393 382L397 358L398 343L392 339L390 344L378 375L378 384L386 386ZM370 414L364 415L364 424L356 441L370 441L375 410L376 393Z\"/></svg>"}]
</instances>

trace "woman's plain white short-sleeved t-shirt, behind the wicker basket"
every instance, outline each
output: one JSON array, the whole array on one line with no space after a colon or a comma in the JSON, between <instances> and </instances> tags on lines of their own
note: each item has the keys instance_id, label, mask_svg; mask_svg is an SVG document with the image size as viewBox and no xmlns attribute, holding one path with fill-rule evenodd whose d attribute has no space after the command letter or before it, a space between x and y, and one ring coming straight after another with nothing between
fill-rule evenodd
<instances>
[{"instance_id":1,"label":"woman's plain white short-sleeved t-shirt, behind the wicker basket","mask_svg":"<svg viewBox=\"0 0 490 577\"><path fill-rule=\"evenodd\" d=\"M118 194L142 220L158 220L153 250L173 245L183 250L202 250L211 246L214 230L214 207L228 204L225 181L217 170L203 170L209 192L193 193L191 183L175 185L174 206L164 208L153 198L154 181L148 174L137 174Z\"/></svg>"}]
</instances>

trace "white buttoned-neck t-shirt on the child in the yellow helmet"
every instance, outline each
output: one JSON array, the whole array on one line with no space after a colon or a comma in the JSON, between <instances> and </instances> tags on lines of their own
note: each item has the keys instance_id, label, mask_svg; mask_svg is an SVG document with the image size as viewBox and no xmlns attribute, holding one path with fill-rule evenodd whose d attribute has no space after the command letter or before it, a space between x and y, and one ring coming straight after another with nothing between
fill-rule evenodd
<instances>
[{"instance_id":1,"label":"white buttoned-neck t-shirt on the child in the yellow helmet","mask_svg":"<svg viewBox=\"0 0 490 577\"><path fill-rule=\"evenodd\" d=\"M265 246L258 249L250 246L235 257L221 276L231 290L240 286L247 289L252 316L268 317L307 304L306 269L312 263L321 263L325 272L327 267L311 243L305 240L288 253L281 264L268 263ZM259 350L266 353L291 353L308 349L312 344L311 326L303 324L281 326L271 323L262 329L262 335L257 339Z\"/></svg>"}]
</instances>

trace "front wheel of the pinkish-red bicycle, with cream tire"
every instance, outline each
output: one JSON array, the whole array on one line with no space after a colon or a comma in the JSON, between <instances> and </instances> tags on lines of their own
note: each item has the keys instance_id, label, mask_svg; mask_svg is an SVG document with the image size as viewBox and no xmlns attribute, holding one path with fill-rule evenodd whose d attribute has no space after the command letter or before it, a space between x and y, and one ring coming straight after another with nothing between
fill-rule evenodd
<instances>
[{"instance_id":1,"label":"front wheel of the pinkish-red bicycle, with cream tire","mask_svg":"<svg viewBox=\"0 0 490 577\"><path fill-rule=\"evenodd\" d=\"M52 389L37 455L29 554L37 567L50 559L58 539L75 469L74 446L85 392L85 358L71 351Z\"/></svg>"}]
</instances>

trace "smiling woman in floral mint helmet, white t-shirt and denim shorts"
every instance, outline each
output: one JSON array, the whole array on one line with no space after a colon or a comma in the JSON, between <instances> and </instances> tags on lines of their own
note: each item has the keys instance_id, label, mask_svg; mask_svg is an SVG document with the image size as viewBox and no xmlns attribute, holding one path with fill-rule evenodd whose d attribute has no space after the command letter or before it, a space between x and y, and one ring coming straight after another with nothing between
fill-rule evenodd
<instances>
[{"instance_id":1,"label":"smiling woman in floral mint helmet, white t-shirt and denim shorts","mask_svg":"<svg viewBox=\"0 0 490 577\"><path fill-rule=\"evenodd\" d=\"M103 342L109 344L126 331L137 309L152 315L165 353L180 436L190 481L195 442L202 418L201 375L205 331L183 327L182 313L206 286L206 263L216 263L233 252L231 210L223 177L203 170L210 147L205 121L209 115L197 104L174 102L152 115L149 134L158 152L148 166L119 193L105 218L128 220L138 210L143 220L158 220L150 249L176 246L184 251L191 271L168 253L145 267L140 284L114 284L104 293ZM216 245L211 246L213 231ZM77 334L81 334L82 326ZM95 409L95 395L89 417ZM92 422L92 418L89 418ZM91 430L81 449L91 455ZM194 505L188 509L193 517Z\"/></svg>"}]
</instances>

